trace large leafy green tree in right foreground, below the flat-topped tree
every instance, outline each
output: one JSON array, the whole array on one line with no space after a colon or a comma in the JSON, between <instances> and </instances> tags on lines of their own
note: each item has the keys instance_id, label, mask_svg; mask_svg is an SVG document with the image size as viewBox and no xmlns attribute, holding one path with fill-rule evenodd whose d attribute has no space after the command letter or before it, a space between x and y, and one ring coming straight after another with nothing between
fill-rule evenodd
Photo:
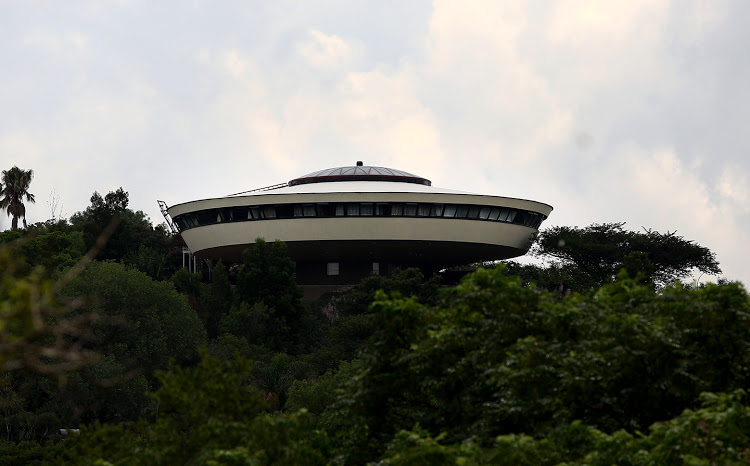
<instances>
[{"instance_id":1,"label":"large leafy green tree in right foreground, below the flat-topped tree","mask_svg":"<svg viewBox=\"0 0 750 466\"><path fill-rule=\"evenodd\" d=\"M643 431L702 391L750 383L750 297L739 284L658 293L622 276L562 300L479 269L436 307L380 294L361 370L327 413L339 448L377 458L419 425L443 442L546 436L580 419Z\"/></svg>"}]
</instances>

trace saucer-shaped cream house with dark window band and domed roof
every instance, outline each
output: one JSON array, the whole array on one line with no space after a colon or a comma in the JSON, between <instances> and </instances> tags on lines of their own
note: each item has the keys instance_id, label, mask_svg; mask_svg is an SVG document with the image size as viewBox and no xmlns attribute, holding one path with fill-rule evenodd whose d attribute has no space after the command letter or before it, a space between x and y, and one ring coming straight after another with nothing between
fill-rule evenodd
<instances>
[{"instance_id":1,"label":"saucer-shaped cream house with dark window band and domed roof","mask_svg":"<svg viewBox=\"0 0 750 466\"><path fill-rule=\"evenodd\" d=\"M397 267L429 274L520 256L552 207L357 162L166 211L198 258L239 262L256 238L284 241L297 282L322 292Z\"/></svg>"}]
</instances>

